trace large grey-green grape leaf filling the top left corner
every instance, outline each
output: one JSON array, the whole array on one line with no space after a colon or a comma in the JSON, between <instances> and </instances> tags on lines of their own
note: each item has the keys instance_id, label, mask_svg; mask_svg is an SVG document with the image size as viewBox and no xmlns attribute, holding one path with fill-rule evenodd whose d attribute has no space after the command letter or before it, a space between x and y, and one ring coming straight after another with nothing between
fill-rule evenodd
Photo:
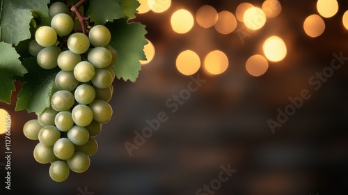
<instances>
[{"instance_id":1,"label":"large grey-green grape leaf filling the top left corner","mask_svg":"<svg viewBox=\"0 0 348 195\"><path fill-rule=\"evenodd\" d=\"M49 0L3 0L1 12L1 40L17 45L31 37L31 11L48 16Z\"/></svg>"}]
</instances>

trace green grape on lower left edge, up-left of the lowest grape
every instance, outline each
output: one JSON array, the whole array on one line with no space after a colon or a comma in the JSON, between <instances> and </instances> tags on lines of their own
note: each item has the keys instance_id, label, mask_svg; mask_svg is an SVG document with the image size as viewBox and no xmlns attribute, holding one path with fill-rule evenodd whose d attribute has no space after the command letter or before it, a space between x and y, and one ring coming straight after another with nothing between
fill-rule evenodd
<instances>
[{"instance_id":1,"label":"green grape on lower left edge, up-left of the lowest grape","mask_svg":"<svg viewBox=\"0 0 348 195\"><path fill-rule=\"evenodd\" d=\"M33 150L33 157L36 162L47 164L52 162L56 155L54 155L53 146L44 146L41 142L38 142Z\"/></svg>"}]
</instances>

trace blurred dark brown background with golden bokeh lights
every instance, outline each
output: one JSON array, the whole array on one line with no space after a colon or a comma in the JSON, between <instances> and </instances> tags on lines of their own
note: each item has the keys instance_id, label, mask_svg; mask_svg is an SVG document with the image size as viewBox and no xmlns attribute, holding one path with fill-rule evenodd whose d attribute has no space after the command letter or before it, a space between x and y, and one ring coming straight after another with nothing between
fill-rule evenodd
<instances>
[{"instance_id":1,"label":"blurred dark brown background with golden bokeh lights","mask_svg":"<svg viewBox=\"0 0 348 195\"><path fill-rule=\"evenodd\" d=\"M139 2L148 60L135 83L113 83L88 171L54 182L22 133L36 115L15 111L17 92L0 102L11 192L347 194L348 1ZM138 146L146 121L157 130Z\"/></svg>"}]
</instances>

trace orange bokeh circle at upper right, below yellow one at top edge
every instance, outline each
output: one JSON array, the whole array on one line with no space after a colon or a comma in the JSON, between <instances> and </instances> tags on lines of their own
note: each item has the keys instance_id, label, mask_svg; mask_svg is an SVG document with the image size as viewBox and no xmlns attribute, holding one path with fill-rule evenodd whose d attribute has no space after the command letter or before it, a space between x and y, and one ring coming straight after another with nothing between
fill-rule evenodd
<instances>
[{"instance_id":1,"label":"orange bokeh circle at upper right, below yellow one at top edge","mask_svg":"<svg viewBox=\"0 0 348 195\"><path fill-rule=\"evenodd\" d=\"M303 22L303 29L308 36L315 38L324 32L325 22L322 17L313 14L308 16Z\"/></svg>"}]
</instances>

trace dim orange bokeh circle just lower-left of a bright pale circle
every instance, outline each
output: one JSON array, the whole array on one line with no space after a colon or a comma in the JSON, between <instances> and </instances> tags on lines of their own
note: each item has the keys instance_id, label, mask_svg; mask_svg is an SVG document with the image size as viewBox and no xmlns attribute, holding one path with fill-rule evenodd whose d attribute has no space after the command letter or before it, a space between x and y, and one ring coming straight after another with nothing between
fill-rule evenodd
<instances>
[{"instance_id":1,"label":"dim orange bokeh circle just lower-left of a bright pale circle","mask_svg":"<svg viewBox=\"0 0 348 195\"><path fill-rule=\"evenodd\" d=\"M268 69L268 61L259 54L251 56L245 64L246 71L251 76L260 77Z\"/></svg>"}]
</instances>

